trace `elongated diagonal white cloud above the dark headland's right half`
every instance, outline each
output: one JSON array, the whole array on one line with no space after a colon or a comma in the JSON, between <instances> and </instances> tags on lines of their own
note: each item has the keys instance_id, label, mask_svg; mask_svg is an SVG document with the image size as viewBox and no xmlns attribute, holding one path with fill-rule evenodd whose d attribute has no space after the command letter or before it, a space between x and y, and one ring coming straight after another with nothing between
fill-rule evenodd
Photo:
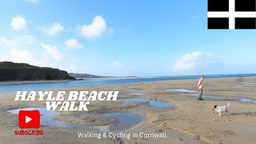
<instances>
[{"instance_id":1,"label":"elongated diagonal white cloud above the dark headland's right half","mask_svg":"<svg viewBox=\"0 0 256 144\"><path fill-rule=\"evenodd\" d=\"M54 59L56 59L57 61L62 60L63 55L62 53L58 50L57 46L52 46L52 45L47 45L45 43L41 44L42 48L44 50L46 50L47 54L50 54L50 56Z\"/></svg>"}]
</instances>

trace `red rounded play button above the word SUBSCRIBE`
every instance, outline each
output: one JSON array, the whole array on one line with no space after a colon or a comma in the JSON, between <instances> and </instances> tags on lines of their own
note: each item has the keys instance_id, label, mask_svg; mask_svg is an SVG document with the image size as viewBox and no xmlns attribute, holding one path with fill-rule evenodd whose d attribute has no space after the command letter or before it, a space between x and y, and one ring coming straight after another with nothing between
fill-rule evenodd
<instances>
[{"instance_id":1,"label":"red rounded play button above the word SUBSCRIBE","mask_svg":"<svg viewBox=\"0 0 256 144\"><path fill-rule=\"evenodd\" d=\"M40 113L38 110L20 110L18 114L19 127L36 128L40 126Z\"/></svg>"}]
</instances>

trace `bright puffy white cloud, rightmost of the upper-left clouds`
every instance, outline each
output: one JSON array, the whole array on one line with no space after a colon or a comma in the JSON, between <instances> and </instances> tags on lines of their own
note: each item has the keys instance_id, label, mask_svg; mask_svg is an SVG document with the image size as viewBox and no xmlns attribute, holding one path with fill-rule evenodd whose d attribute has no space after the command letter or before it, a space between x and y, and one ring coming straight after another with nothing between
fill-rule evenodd
<instances>
[{"instance_id":1,"label":"bright puffy white cloud, rightmost of the upper-left clouds","mask_svg":"<svg viewBox=\"0 0 256 144\"><path fill-rule=\"evenodd\" d=\"M89 25L82 26L82 36L85 38L98 38L106 31L106 22L102 16L94 17Z\"/></svg>"}]
</instances>

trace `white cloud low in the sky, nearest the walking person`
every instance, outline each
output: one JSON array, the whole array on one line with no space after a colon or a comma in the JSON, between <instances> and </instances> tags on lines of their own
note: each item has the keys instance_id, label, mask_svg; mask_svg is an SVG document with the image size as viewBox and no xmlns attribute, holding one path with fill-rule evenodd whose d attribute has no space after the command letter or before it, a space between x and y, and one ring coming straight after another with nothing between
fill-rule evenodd
<instances>
[{"instance_id":1,"label":"white cloud low in the sky, nearest the walking person","mask_svg":"<svg viewBox=\"0 0 256 144\"><path fill-rule=\"evenodd\" d=\"M210 53L194 51L193 53L184 54L182 57L178 58L178 61L174 64L174 70L193 70L196 67L206 66L212 62L213 58Z\"/></svg>"}]
</instances>

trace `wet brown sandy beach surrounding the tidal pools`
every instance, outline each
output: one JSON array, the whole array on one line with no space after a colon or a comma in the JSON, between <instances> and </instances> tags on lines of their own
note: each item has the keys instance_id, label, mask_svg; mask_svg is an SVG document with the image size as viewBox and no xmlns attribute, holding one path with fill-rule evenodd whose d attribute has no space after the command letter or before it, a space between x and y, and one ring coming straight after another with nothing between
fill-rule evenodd
<instances>
[{"instance_id":1,"label":"wet brown sandy beach surrounding the tidal pools","mask_svg":"<svg viewBox=\"0 0 256 144\"><path fill-rule=\"evenodd\" d=\"M45 102L14 102L15 94L0 94L0 139L2 143L254 143L256 142L256 102L243 102L239 98L256 99L256 78L216 78L205 82L206 96L198 101L198 80L173 80L142 82L109 86L90 86L70 90L118 90L118 99L144 98L157 102L169 102L173 106L159 108L146 102L91 102L89 111L60 112L54 120L75 122L84 126L106 126L118 123L114 118L102 117L106 113L133 113L145 117L123 133L166 133L166 138L78 138L79 132L69 128L41 126L42 136L14 135L18 127L18 114L7 113L26 107L46 107ZM248 82L248 83L246 83ZM176 89L197 92L175 91ZM54 90L56 91L56 90ZM132 95L141 93L146 95ZM188 94L188 95L186 95ZM230 116L218 116L211 107L225 106L230 102ZM117 132L118 133L118 132ZM17 137L17 138L16 138Z\"/></svg>"}]
</instances>

